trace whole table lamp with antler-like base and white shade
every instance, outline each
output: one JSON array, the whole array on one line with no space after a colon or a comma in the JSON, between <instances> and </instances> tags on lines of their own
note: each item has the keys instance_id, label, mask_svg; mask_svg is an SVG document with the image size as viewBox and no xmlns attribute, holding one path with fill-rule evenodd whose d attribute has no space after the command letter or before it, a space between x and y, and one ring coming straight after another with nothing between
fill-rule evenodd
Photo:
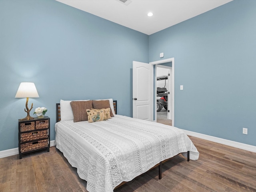
<instances>
[{"instance_id":1,"label":"whole table lamp with antler-like base and white shade","mask_svg":"<svg viewBox=\"0 0 256 192\"><path fill-rule=\"evenodd\" d=\"M30 120L34 119L33 117L30 116L29 112L33 108L33 103L31 105L31 108L28 109L28 98L36 98L39 97L38 92L36 90L36 86L34 83L31 82L21 82L20 86L18 88L18 91L16 93L15 98L27 98L26 101L26 109L24 109L25 112L27 112L27 116L21 120Z\"/></svg>"}]
</instances>

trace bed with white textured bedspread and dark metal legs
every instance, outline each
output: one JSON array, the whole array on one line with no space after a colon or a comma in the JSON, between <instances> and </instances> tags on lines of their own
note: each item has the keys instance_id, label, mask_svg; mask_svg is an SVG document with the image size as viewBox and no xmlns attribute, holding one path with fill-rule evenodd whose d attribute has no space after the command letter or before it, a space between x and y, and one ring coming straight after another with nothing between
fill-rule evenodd
<instances>
[{"instance_id":1,"label":"bed with white textured bedspread and dark metal legs","mask_svg":"<svg viewBox=\"0 0 256 192\"><path fill-rule=\"evenodd\" d=\"M199 157L182 130L118 115L117 102L112 99L109 103L113 116L91 123L74 122L75 116L73 120L62 119L65 113L61 107L70 101L65 105L61 101L56 104L56 148L77 168L79 177L87 181L89 192L113 192L117 186L156 166L161 179L162 162L180 153L188 161Z\"/></svg>"}]
</instances>

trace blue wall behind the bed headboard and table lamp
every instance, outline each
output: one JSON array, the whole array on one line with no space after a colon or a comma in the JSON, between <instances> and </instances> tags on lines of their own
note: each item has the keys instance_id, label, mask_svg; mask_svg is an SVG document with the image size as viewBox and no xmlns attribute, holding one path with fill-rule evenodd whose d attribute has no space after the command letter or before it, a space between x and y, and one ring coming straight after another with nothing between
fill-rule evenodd
<instances>
[{"instance_id":1,"label":"blue wall behind the bed headboard and table lamp","mask_svg":"<svg viewBox=\"0 0 256 192\"><path fill-rule=\"evenodd\" d=\"M20 82L34 82L51 118L63 100L118 100L132 116L132 61L148 62L148 35L54 0L0 1L0 151L18 147L18 119L26 98L14 98Z\"/></svg>"}]
</instances>

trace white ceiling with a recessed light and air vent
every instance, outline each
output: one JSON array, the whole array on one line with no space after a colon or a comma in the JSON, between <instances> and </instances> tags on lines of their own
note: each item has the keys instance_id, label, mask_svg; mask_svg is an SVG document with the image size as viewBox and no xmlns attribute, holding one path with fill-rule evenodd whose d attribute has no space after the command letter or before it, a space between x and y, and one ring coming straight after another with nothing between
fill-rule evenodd
<instances>
[{"instance_id":1,"label":"white ceiling with a recessed light and air vent","mask_svg":"<svg viewBox=\"0 0 256 192\"><path fill-rule=\"evenodd\" d=\"M151 35L232 0L57 0ZM148 17L148 12L154 15Z\"/></svg>"}]
</instances>

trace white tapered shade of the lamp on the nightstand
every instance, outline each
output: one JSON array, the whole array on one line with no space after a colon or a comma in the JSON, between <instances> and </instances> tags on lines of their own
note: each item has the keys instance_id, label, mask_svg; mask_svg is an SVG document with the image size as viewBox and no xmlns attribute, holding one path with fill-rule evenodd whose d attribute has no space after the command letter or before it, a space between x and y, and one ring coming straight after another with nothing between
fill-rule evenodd
<instances>
[{"instance_id":1,"label":"white tapered shade of the lamp on the nightstand","mask_svg":"<svg viewBox=\"0 0 256 192\"><path fill-rule=\"evenodd\" d=\"M22 82L18 88L15 98L39 97L36 86L31 82Z\"/></svg>"}]
</instances>

